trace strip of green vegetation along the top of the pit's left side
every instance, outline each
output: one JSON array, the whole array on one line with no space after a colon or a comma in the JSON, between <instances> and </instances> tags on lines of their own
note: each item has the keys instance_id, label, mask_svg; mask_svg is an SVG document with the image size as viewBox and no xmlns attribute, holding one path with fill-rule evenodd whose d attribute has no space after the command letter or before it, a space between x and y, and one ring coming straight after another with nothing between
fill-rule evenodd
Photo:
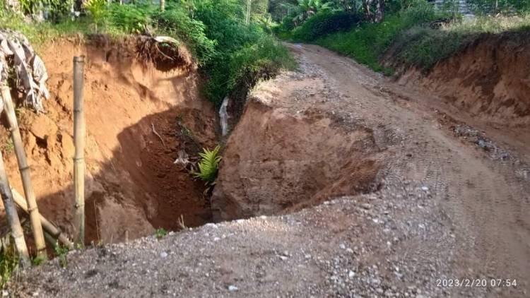
<instances>
[{"instance_id":1,"label":"strip of green vegetation along the top of the pit's left side","mask_svg":"<svg viewBox=\"0 0 530 298\"><path fill-rule=\"evenodd\" d=\"M263 5L253 6L247 22L242 0L168 0L163 11L151 1L88 0L76 13L71 13L73 1L24 0L18 8L8 8L4 1L0 0L0 28L23 32L37 49L54 38L78 33L117 40L131 34L173 37L192 52L205 78L204 94L217 106L236 88L295 66L287 49L268 33L266 6L265 11ZM37 21L42 11L49 18Z\"/></svg>"}]
</instances>

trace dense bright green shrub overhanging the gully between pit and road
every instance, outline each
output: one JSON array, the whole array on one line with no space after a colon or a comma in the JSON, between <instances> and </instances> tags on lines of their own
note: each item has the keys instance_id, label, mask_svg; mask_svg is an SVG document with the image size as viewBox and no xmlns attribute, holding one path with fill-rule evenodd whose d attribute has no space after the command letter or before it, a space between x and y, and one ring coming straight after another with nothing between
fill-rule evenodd
<instances>
[{"instance_id":1,"label":"dense bright green shrub overhanging the gully between pit and road","mask_svg":"<svg viewBox=\"0 0 530 298\"><path fill-rule=\"evenodd\" d=\"M201 1L194 16L204 23L206 37L217 42L216 52L201 71L208 79L204 94L218 107L242 79L247 81L244 85L252 87L256 78L294 65L288 50L259 25L245 25L239 6L219 7L212 1Z\"/></svg>"}]
</instances>

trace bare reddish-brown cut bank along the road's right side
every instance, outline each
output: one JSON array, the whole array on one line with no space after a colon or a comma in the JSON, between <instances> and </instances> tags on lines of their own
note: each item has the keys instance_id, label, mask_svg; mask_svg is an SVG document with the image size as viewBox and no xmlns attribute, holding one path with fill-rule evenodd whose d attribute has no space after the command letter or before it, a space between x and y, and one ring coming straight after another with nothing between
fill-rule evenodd
<instances>
[{"instance_id":1,"label":"bare reddish-brown cut bank along the road's right side","mask_svg":"<svg viewBox=\"0 0 530 298\"><path fill-rule=\"evenodd\" d=\"M530 32L482 35L427 76L409 70L399 83L422 85L476 117L530 124Z\"/></svg>"}]
</instances>

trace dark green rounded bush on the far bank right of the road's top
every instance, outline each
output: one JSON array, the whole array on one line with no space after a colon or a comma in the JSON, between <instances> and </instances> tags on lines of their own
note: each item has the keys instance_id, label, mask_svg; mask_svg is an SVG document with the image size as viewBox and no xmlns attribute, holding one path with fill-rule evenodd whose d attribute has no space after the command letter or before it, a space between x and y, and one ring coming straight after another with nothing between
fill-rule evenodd
<instances>
[{"instance_id":1,"label":"dark green rounded bush on the far bank right of the road's top","mask_svg":"<svg viewBox=\"0 0 530 298\"><path fill-rule=\"evenodd\" d=\"M361 18L358 14L344 11L317 13L300 27L295 28L291 38L303 42L316 40L334 32L348 30L357 25Z\"/></svg>"}]
</instances>

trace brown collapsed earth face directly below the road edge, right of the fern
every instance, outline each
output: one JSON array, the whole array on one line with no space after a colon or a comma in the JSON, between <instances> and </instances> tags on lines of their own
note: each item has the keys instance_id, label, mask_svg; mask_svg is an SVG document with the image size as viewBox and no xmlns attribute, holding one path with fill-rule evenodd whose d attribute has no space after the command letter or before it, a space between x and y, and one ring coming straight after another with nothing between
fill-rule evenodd
<instances>
[{"instance_id":1,"label":"brown collapsed earth face directly below the road edge, right of the fern","mask_svg":"<svg viewBox=\"0 0 530 298\"><path fill-rule=\"evenodd\" d=\"M344 129L314 109L295 116L254 97L226 144L213 217L292 212L374 189L376 147L369 129Z\"/></svg>"}]
</instances>

